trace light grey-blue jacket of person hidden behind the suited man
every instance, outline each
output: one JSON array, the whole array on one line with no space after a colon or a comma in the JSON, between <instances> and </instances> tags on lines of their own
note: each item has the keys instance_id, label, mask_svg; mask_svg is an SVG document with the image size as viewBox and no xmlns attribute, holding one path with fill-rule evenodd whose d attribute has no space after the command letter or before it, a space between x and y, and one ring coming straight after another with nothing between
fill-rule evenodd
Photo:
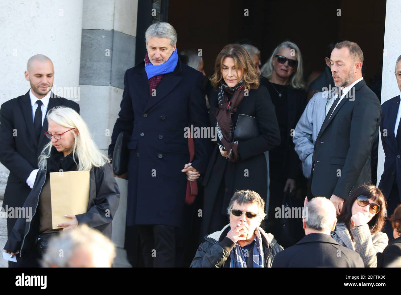
<instances>
[{"instance_id":1,"label":"light grey-blue jacket of person hidden behind the suited man","mask_svg":"<svg viewBox=\"0 0 401 295\"><path fill-rule=\"evenodd\" d=\"M312 96L295 127L292 140L295 144L295 151L302 161L302 171L306 178L310 178L313 148L320 127L326 118L326 104L330 101L331 106L336 98L330 95L332 93L333 90L327 90Z\"/></svg>"}]
</instances>

